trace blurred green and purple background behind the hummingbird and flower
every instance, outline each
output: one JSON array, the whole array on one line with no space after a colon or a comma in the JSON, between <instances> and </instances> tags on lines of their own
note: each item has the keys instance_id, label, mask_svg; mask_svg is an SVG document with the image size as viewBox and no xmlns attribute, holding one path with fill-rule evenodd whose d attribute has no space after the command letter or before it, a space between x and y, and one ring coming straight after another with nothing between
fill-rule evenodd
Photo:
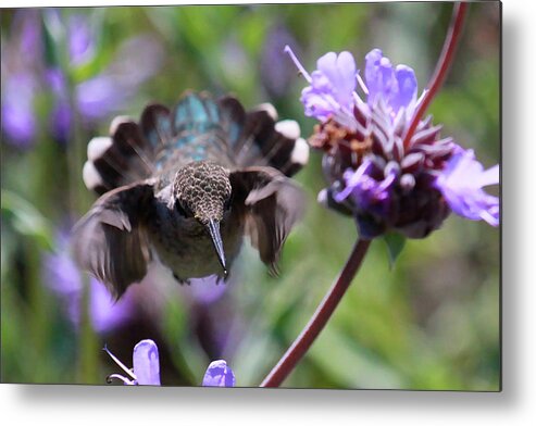
<instances>
[{"instance_id":1,"label":"blurred green and purple background behind the hummingbird and flower","mask_svg":"<svg viewBox=\"0 0 536 426\"><path fill-rule=\"evenodd\" d=\"M456 62L429 113L486 167L500 153L500 5L472 3ZM162 384L199 386L223 358L237 386L260 384L299 334L357 238L351 220L316 204L321 155L297 175L308 196L281 275L249 245L226 286L178 286L154 268L113 304L80 275L68 231L95 201L82 181L88 140L113 116L172 105L186 89L270 101L307 137L299 102L327 51L358 67L378 47L434 70L450 3L356 3L1 11L1 380L105 384L137 341L159 346ZM497 193L498 191L496 191ZM500 231L451 215L408 241L394 266L374 241L314 346L285 381L296 388L500 388Z\"/></svg>"}]
</instances>

